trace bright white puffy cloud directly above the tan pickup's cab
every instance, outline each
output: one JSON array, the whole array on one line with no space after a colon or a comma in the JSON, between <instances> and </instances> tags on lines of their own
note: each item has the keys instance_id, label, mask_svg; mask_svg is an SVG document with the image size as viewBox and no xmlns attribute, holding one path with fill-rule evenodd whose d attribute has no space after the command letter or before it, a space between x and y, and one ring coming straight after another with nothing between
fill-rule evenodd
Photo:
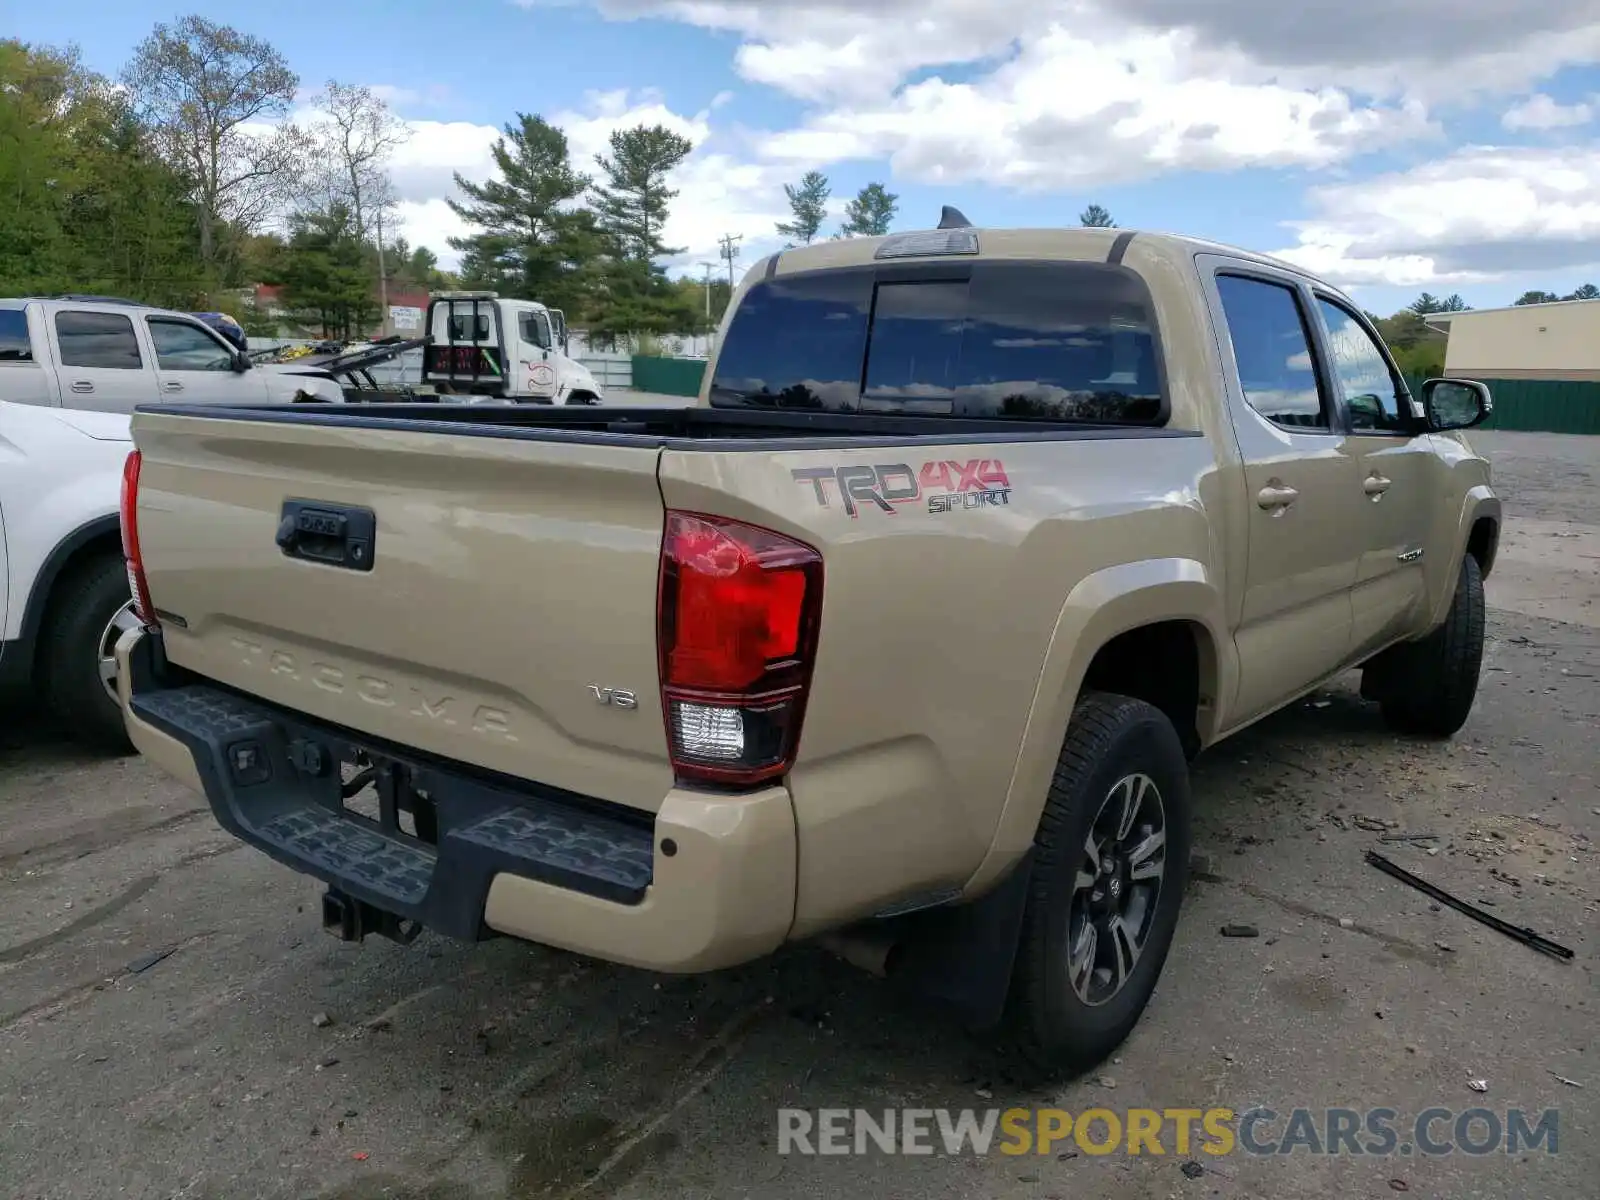
<instances>
[{"instance_id":1,"label":"bright white puffy cloud directly above the tan pickup's cab","mask_svg":"<svg viewBox=\"0 0 1600 1200\"><path fill-rule=\"evenodd\" d=\"M1362 106L1338 88L1290 88L1234 62L1194 70L1194 35L1054 27L976 80L912 83L771 136L797 166L888 157L898 178L1056 189L1174 170L1330 166L1435 136L1421 104ZM1062 86L1070 80L1070 86Z\"/></svg>"}]
</instances>

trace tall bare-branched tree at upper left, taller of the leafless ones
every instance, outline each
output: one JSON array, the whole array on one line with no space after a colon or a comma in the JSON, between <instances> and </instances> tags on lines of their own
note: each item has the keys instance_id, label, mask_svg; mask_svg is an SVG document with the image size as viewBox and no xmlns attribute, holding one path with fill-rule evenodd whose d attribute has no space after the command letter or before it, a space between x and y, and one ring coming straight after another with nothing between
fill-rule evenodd
<instances>
[{"instance_id":1,"label":"tall bare-branched tree at upper left, taller of the leafless ones","mask_svg":"<svg viewBox=\"0 0 1600 1200\"><path fill-rule=\"evenodd\" d=\"M200 256L214 267L218 227L258 227L302 168L299 131L272 125L288 114L299 77L269 42L186 16L150 30L123 83L189 182Z\"/></svg>"}]
</instances>

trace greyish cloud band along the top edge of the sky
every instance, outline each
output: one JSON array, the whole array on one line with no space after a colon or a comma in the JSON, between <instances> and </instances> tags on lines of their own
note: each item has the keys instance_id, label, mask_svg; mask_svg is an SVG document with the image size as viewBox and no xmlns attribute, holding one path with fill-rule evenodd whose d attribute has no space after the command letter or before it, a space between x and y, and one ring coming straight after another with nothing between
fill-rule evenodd
<instances>
[{"instance_id":1,"label":"greyish cloud band along the top edge of the sky","mask_svg":"<svg viewBox=\"0 0 1600 1200\"><path fill-rule=\"evenodd\" d=\"M550 0L523 0L528 6ZM571 3L571 0L563 0ZM592 0L744 38L752 82L806 99L861 96L910 72L981 62L1058 26L1099 37L1184 32L1202 54L1248 61L1285 86L1370 94L1520 91L1600 54L1600 0ZM1070 78L1062 83L1072 85Z\"/></svg>"}]
</instances>

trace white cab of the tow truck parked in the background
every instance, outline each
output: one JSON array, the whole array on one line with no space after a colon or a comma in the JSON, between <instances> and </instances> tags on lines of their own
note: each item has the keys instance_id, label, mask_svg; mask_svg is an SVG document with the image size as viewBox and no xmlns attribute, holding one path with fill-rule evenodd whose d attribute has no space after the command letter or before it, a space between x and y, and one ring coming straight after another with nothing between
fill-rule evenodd
<instances>
[{"instance_id":1,"label":"white cab of the tow truck parked in the background","mask_svg":"<svg viewBox=\"0 0 1600 1200\"><path fill-rule=\"evenodd\" d=\"M571 357L566 314L493 291L445 291L427 306L422 382L467 403L598 405L600 384Z\"/></svg>"}]
</instances>

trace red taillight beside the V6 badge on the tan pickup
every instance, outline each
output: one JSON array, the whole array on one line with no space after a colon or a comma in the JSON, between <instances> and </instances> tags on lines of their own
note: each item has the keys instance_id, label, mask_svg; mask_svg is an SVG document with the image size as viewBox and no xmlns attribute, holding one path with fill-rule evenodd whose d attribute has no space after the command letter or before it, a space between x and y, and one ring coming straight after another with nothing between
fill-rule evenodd
<instances>
[{"instance_id":1,"label":"red taillight beside the V6 badge on the tan pickup","mask_svg":"<svg viewBox=\"0 0 1600 1200\"><path fill-rule=\"evenodd\" d=\"M667 514L656 621L678 779L752 786L794 765L821 616L822 555L810 546Z\"/></svg>"}]
</instances>

